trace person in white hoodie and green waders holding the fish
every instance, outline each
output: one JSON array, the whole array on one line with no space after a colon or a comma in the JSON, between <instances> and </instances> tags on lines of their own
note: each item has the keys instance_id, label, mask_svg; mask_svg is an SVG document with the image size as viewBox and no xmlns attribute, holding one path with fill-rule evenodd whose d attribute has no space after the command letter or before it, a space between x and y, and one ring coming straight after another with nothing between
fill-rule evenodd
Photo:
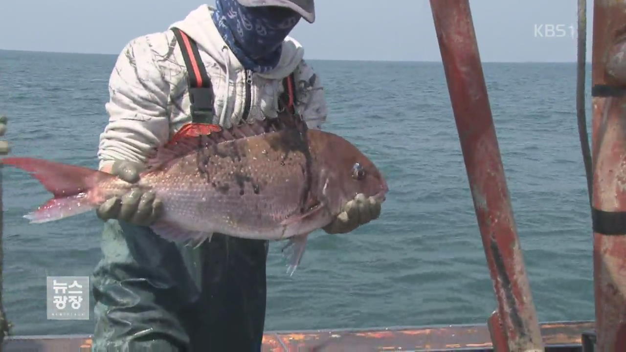
<instances>
[{"instance_id":1,"label":"person in white hoodie and green waders holding the fish","mask_svg":"<svg viewBox=\"0 0 626 352\"><path fill-rule=\"evenodd\" d=\"M137 182L146 157L190 122L288 116L321 128L321 81L288 36L300 18L314 22L313 0L217 0L130 41L110 77L100 170ZM148 227L162 209L134 189L96 211L105 228L93 350L259 351L268 242L214 234L195 248L174 244ZM381 204L357 195L344 210L327 233L376 219Z\"/></svg>"}]
</instances>

